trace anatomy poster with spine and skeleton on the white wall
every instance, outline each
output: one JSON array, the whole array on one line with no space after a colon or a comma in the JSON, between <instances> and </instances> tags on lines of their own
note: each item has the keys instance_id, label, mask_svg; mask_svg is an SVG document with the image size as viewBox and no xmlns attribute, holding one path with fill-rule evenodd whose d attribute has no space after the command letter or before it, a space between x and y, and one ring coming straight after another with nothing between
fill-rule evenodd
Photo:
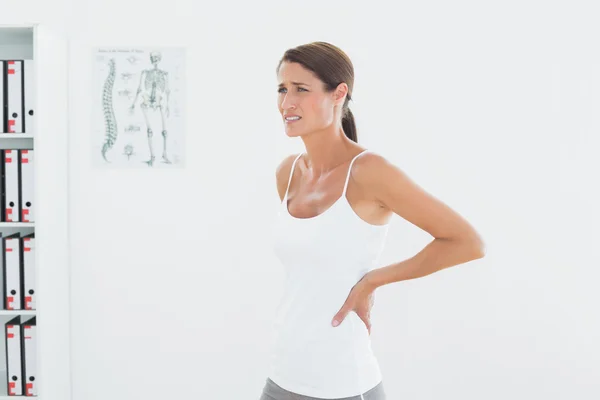
<instances>
[{"instance_id":1,"label":"anatomy poster with spine and skeleton on the white wall","mask_svg":"<svg viewBox=\"0 0 600 400\"><path fill-rule=\"evenodd\" d=\"M185 50L97 48L93 63L94 166L182 168Z\"/></svg>"}]
</instances>

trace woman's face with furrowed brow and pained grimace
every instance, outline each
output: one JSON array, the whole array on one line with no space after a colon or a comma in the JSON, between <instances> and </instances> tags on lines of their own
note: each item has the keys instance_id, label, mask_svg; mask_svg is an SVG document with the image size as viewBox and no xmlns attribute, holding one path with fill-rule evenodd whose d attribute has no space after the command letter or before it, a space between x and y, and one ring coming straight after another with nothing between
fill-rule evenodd
<instances>
[{"instance_id":1,"label":"woman's face with furrowed brow and pained grimace","mask_svg":"<svg viewBox=\"0 0 600 400\"><path fill-rule=\"evenodd\" d=\"M327 93L323 82L298 63L279 68L277 105L288 136L322 130L334 122L335 92ZM299 119L289 120L296 116Z\"/></svg>"}]
</instances>

